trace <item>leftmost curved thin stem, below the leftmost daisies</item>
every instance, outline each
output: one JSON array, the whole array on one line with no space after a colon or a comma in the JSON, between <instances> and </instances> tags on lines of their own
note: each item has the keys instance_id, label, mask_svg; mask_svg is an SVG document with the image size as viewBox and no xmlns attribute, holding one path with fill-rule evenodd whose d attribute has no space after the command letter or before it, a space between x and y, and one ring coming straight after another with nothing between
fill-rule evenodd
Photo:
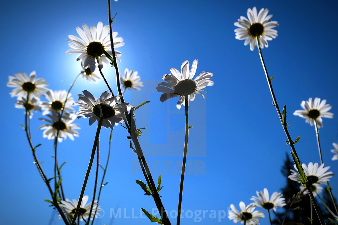
<instances>
[{"instance_id":1,"label":"leftmost curved thin stem, below the leftmost daisies","mask_svg":"<svg viewBox=\"0 0 338 225\"><path fill-rule=\"evenodd\" d=\"M28 99L29 99L29 92L27 93L27 103L28 103ZM34 146L33 146L33 143L32 143L32 140L31 140L31 136L30 136L30 126L29 126L30 123L28 122L28 120L29 120L28 114L29 114L29 113L28 113L28 110L27 110L27 108L26 108L26 112L25 112L25 131L26 131L26 135L27 135L28 142L29 142L29 146L30 146L30 148L32 149L32 153L33 153L33 158L34 158L35 165L37 165L37 168L38 168L38 170L39 170L39 173L42 175L42 179L43 179L43 181L45 182L45 184L46 184L47 187L48 187L49 193L50 193L50 195L51 195L51 197L52 197L52 199L53 199L54 206L56 207L57 211L58 211L59 214L61 215L61 217L62 217L63 221L65 222L65 224L66 224L66 225L69 225L69 222L68 222L68 220L67 220L65 214L62 212L62 209L61 209L61 207L59 206L59 204L58 204L58 202L57 202L57 200L56 200L56 198L55 198L55 195L54 195L54 194L56 194L56 193L53 193L53 190L52 190L52 188L50 187L50 184L49 184L49 182L48 182L48 178L47 178L47 176L46 176L44 170L43 170L42 167L41 167L41 164L40 164L40 162L39 162L39 160L38 160L37 155L35 154L35 148L34 148Z\"/></svg>"}]
</instances>

